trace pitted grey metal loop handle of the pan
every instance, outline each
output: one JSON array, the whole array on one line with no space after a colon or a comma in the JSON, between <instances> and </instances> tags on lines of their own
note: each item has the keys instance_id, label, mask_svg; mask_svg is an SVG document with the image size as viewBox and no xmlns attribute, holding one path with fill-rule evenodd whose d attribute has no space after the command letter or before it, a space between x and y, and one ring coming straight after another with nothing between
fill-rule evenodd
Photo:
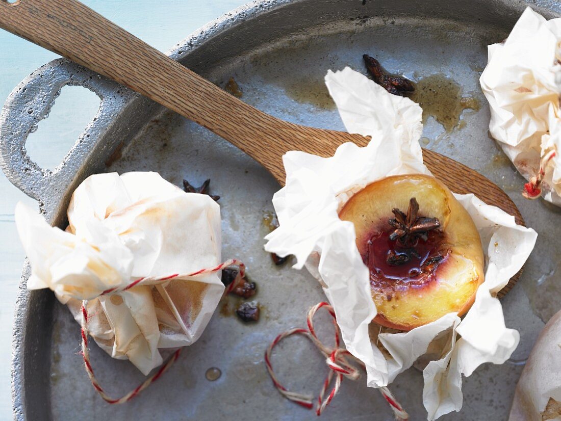
<instances>
[{"instance_id":1,"label":"pitted grey metal loop handle of the pan","mask_svg":"<svg viewBox=\"0 0 561 421\"><path fill-rule=\"evenodd\" d=\"M65 85L95 92L101 100L100 108L62 163L54 170L43 169L27 155L25 142L39 121L47 118ZM107 109L116 109L130 98L125 87L67 59L45 64L20 82L4 104L0 114L0 167L10 182L38 200L43 210L56 210L68 187L80 177L80 169L95 146L94 139L107 129L112 118ZM106 107L108 100L111 107ZM46 202L51 206L45 206Z\"/></svg>"}]
</instances>

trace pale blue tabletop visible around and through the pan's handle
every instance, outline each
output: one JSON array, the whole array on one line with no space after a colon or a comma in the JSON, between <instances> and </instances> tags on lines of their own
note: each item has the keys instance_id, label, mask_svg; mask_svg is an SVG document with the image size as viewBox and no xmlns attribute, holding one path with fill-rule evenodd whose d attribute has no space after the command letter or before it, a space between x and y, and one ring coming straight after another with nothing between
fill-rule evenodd
<instances>
[{"instance_id":1,"label":"pale blue tabletop visible around and through the pan's handle","mask_svg":"<svg viewBox=\"0 0 561 421\"><path fill-rule=\"evenodd\" d=\"M243 0L82 1L162 51L243 3ZM0 99L5 100L24 77L54 58L57 58L56 54L0 30ZM31 159L44 168L58 165L95 114L98 103L97 97L85 89L64 88L49 118L39 123L38 131L27 142ZM1 173L0 197L0 420L10 420L13 419L10 392L12 321L25 257L17 238L13 209L17 201L31 204L33 201Z\"/></svg>"}]
</instances>

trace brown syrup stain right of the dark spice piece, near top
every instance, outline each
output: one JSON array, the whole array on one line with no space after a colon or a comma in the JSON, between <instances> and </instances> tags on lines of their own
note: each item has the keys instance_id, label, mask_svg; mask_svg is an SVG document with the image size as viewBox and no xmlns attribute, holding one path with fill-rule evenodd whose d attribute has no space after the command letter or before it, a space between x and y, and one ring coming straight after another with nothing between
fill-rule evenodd
<instances>
[{"instance_id":1,"label":"brown syrup stain right of the dark spice piece, near top","mask_svg":"<svg viewBox=\"0 0 561 421\"><path fill-rule=\"evenodd\" d=\"M462 87L442 73L422 77L410 98L421 105L423 123L432 115L447 132L458 126L463 110L480 108L477 98L462 96Z\"/></svg>"}]
</instances>

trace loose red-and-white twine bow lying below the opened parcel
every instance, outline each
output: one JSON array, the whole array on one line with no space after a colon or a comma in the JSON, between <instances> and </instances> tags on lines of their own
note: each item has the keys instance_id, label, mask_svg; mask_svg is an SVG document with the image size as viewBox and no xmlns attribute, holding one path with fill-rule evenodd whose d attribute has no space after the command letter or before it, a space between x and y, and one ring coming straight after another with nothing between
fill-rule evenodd
<instances>
[{"instance_id":1,"label":"loose red-and-white twine bow lying below the opened parcel","mask_svg":"<svg viewBox=\"0 0 561 421\"><path fill-rule=\"evenodd\" d=\"M314 329L313 319L315 313L317 313L320 308L324 308L325 310L327 310L332 318L335 332L335 346L333 348L321 342L318 339L318 336L316 335ZM275 337L273 342L265 350L265 366L267 368L267 371L269 372L271 380L273 381L273 385L275 386L275 388L277 388L280 394L286 397L286 399L291 400L298 405L304 406L304 408L314 408L314 398L311 395L290 391L279 382L277 375L274 372L273 364L271 363L271 354L273 353L273 348L277 346L280 341L292 335L302 335L307 337L307 339L309 339L316 346L316 348L318 348L320 353L323 354L323 356L325 357L325 363L329 367L329 372L327 374L327 377L325 378L325 381L323 382L323 385L321 386L321 390L316 402L316 414L321 415L321 413L323 413L325 408L327 408L329 403L333 400L335 395L337 395L337 393L339 392L343 377L347 377L351 380L357 380L357 378L361 375L360 369L364 371L365 366L361 360L356 358L346 349L340 347L341 337L339 336L337 318L335 317L333 307L328 303L321 302L310 308L306 317L306 322L308 326L307 329L290 329ZM329 386L333 382L333 377L335 377L335 381L332 389L328 394L327 391ZM389 391L387 387L379 387L376 389L380 391L381 395L390 405L390 408L392 408L396 420L407 421L409 419L409 415L407 414L407 412L403 409L401 404L399 404L399 402L397 401L396 397L392 394L392 392Z\"/></svg>"}]
</instances>

